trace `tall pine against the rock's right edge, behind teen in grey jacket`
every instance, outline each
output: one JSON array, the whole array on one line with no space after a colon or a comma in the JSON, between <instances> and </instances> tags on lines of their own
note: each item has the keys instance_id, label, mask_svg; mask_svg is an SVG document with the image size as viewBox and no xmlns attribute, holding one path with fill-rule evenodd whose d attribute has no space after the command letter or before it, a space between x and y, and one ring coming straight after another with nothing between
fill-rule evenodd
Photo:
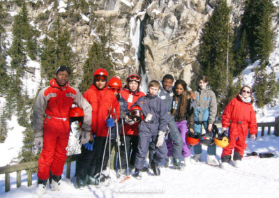
<instances>
[{"instance_id":1,"label":"tall pine against the rock's right edge, behind teen in grey jacket","mask_svg":"<svg viewBox=\"0 0 279 198\"><path fill-rule=\"evenodd\" d=\"M227 7L227 2L219 1L209 22L205 24L198 56L202 73L209 78L218 104L224 104L220 105L222 108L227 102L234 71L233 33L229 17L230 8ZM222 109L219 108L219 111Z\"/></svg>"}]
</instances>

